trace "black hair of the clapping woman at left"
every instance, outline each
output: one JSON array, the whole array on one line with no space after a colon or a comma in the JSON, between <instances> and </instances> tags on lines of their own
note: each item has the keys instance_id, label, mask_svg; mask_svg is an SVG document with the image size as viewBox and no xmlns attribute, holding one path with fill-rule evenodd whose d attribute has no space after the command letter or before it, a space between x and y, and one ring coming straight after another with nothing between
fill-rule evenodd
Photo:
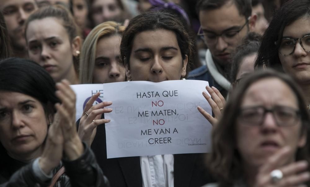
<instances>
[{"instance_id":1,"label":"black hair of the clapping woman at left","mask_svg":"<svg viewBox=\"0 0 310 187\"><path fill-rule=\"evenodd\" d=\"M45 114L55 113L55 82L50 74L37 63L21 58L0 61L0 91L18 92L40 101ZM2 158L6 151L0 143L0 168L5 164Z\"/></svg>"}]
</instances>

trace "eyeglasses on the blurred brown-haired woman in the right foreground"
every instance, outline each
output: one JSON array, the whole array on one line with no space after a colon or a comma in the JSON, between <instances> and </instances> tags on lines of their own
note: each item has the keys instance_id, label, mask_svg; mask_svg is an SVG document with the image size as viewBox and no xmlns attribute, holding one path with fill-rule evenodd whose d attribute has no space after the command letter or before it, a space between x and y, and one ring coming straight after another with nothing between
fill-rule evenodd
<instances>
[{"instance_id":1,"label":"eyeglasses on the blurred brown-haired woman in the right foreground","mask_svg":"<svg viewBox=\"0 0 310 187\"><path fill-rule=\"evenodd\" d=\"M299 110L288 106L275 106L267 109L263 106L255 106L241 109L239 120L250 126L261 125L268 112L273 114L278 126L293 126L300 120Z\"/></svg>"}]
</instances>

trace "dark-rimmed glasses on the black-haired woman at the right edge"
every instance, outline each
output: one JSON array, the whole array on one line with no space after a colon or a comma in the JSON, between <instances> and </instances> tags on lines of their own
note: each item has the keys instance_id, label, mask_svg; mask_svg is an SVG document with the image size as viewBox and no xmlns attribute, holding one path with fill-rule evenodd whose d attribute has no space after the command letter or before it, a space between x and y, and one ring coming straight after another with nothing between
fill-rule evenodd
<instances>
[{"instance_id":1,"label":"dark-rimmed glasses on the black-haired woman at the right edge","mask_svg":"<svg viewBox=\"0 0 310 187\"><path fill-rule=\"evenodd\" d=\"M282 38L279 53L284 56L293 54L297 41L299 41L303 50L310 52L310 34L307 34L302 38ZM275 44L277 45L278 42L279 41L276 41Z\"/></svg>"}]
</instances>

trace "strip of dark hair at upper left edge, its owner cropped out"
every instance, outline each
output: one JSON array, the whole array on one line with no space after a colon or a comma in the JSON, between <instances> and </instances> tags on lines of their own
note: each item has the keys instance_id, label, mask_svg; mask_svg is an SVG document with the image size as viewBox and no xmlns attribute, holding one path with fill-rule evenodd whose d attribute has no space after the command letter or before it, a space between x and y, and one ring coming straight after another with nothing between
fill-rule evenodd
<instances>
[{"instance_id":1,"label":"strip of dark hair at upper left edge, its owner cropped out","mask_svg":"<svg viewBox=\"0 0 310 187\"><path fill-rule=\"evenodd\" d=\"M11 56L11 42L7 33L7 25L0 11L0 60Z\"/></svg>"}]
</instances>

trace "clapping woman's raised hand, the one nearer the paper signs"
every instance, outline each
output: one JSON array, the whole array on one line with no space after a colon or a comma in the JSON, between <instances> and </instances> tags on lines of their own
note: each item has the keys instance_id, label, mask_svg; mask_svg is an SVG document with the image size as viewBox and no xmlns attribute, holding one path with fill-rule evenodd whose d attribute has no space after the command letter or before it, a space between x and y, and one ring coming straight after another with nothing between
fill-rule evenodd
<instances>
[{"instance_id":1,"label":"clapping woman's raised hand, the one nearer the paper signs","mask_svg":"<svg viewBox=\"0 0 310 187\"><path fill-rule=\"evenodd\" d=\"M61 100L61 104L56 104L55 108L63 119L61 129L64 137L64 153L69 160L75 160L79 158L84 151L82 141L78 137L75 125L76 96L67 80L58 82L56 88L56 96Z\"/></svg>"}]
</instances>

